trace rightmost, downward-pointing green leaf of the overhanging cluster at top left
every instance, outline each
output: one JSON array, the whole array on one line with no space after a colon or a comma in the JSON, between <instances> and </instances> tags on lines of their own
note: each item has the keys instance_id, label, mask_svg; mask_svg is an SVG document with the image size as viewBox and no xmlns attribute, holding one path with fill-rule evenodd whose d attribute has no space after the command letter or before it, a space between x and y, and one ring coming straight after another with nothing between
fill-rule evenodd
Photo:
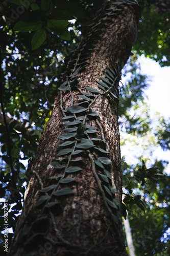
<instances>
[{"instance_id":1,"label":"rightmost, downward-pointing green leaf of the overhanging cluster at top left","mask_svg":"<svg viewBox=\"0 0 170 256\"><path fill-rule=\"evenodd\" d=\"M71 36L66 28L68 24L67 20L48 19L46 28L49 31L54 31L60 38L70 40Z\"/></svg>"}]
</instances>

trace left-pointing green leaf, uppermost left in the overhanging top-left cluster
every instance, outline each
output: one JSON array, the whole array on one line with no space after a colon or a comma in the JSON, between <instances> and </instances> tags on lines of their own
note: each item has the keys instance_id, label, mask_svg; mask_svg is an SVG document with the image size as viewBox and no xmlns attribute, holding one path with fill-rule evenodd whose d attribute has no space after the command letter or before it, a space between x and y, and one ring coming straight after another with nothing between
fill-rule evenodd
<instances>
[{"instance_id":1,"label":"left-pointing green leaf, uppermost left in the overhanging top-left cluster","mask_svg":"<svg viewBox=\"0 0 170 256\"><path fill-rule=\"evenodd\" d=\"M30 31L36 31L42 27L41 20L38 20L37 22L33 23L27 23L27 22L17 22L14 26L14 29L19 30L21 32L30 32Z\"/></svg>"}]
</instances>

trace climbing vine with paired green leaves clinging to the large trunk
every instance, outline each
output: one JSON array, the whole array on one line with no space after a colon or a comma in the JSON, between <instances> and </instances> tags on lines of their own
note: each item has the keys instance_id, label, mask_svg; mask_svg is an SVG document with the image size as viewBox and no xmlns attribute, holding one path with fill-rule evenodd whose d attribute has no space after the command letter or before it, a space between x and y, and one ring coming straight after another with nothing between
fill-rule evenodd
<instances>
[{"instance_id":1,"label":"climbing vine with paired green leaves clinging to the large trunk","mask_svg":"<svg viewBox=\"0 0 170 256\"><path fill-rule=\"evenodd\" d=\"M69 187L69 183L74 182L75 179L69 177L69 174L81 172L82 168L79 163L84 160L84 155L91 162L93 176L96 180L96 184L98 184L104 205L111 216L112 225L115 227L115 232L118 236L118 226L122 223L122 215L119 213L120 201L115 198L116 186L114 184L112 161L109 158L109 147L104 136L99 113L93 110L92 105L100 96L105 96L112 103L117 104L119 99L118 81L122 65L119 63L117 68L112 67L106 70L105 77L101 77L100 81L96 81L99 90L86 87L86 91L82 91L78 87L78 79L76 78L88 65L87 61L91 50L94 48L95 40L99 38L102 22L117 15L117 12L122 10L122 4L134 5L137 4L137 2L118 0L113 2L113 4L113 6L106 9L104 14L101 14L100 19L97 17L98 15L94 18L93 24L90 26L90 32L87 34L86 40L84 40L84 45L80 45L80 47L72 53L72 58L67 62L67 70L69 70L69 72L71 71L71 74L69 73L69 75L67 75L68 73L65 73L66 80L58 88L60 91L60 109L63 114L61 124L65 126L63 129L64 134L58 136L58 138L62 140L62 143L58 146L58 148L61 147L61 149L57 152L58 158L51 163L51 165L60 170L61 173L48 178L50 180L57 180L57 184L43 187L40 177L35 170L33 172L41 186L39 191L43 194L36 202L35 207L43 206L43 209L38 219L32 223L30 228L24 229L20 234L19 240L27 237L26 245L35 239L36 236L43 236L45 239L44 233L33 233L31 235L31 230L35 223L42 219L47 221L49 215L54 230L58 232L51 209L56 205L59 206L59 202L51 202L51 199L52 197L74 195L74 191ZM99 19L98 23L96 23L97 18ZM75 55L78 57L75 58ZM71 80L72 77L74 77L73 80ZM77 96L82 99L82 101L77 104L74 104L74 95L72 94L72 90L75 89L80 93ZM63 92L65 91L68 91L71 97L71 105L66 109L63 108ZM93 120L99 128L97 129L87 124L89 120ZM98 132L100 132L101 138L95 136ZM105 150L98 145L98 142L102 143ZM58 189L60 184L65 185L65 187ZM22 224L25 223L25 221L26 220L24 220ZM68 242L61 236L58 236L58 238L62 243L68 245ZM118 240L120 241L120 239ZM55 243L58 242L56 241Z\"/></svg>"}]
</instances>

